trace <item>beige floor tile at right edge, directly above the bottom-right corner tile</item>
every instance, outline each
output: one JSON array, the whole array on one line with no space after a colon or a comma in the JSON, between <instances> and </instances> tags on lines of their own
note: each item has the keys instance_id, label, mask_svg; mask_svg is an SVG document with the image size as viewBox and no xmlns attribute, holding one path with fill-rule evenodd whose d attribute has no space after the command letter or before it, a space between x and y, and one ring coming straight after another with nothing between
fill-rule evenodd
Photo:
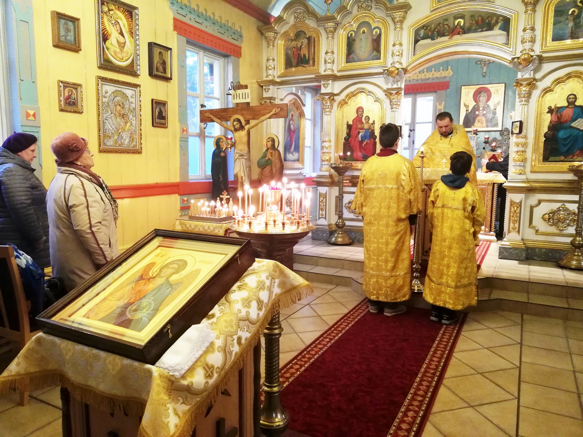
<instances>
[{"instance_id":1,"label":"beige floor tile at right edge, directly above the bottom-right corner tile","mask_svg":"<svg viewBox=\"0 0 583 437\"><path fill-rule=\"evenodd\" d=\"M520 406L583 419L577 393L521 382Z\"/></svg>"}]
</instances>

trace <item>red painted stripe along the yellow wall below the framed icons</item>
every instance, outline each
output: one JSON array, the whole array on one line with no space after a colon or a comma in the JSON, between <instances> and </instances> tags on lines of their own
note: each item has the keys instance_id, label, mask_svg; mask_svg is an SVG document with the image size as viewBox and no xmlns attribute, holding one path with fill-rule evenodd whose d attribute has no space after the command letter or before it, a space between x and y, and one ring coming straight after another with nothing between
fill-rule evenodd
<instances>
[{"instance_id":1,"label":"red painted stripe along the yellow wall below the framed icons","mask_svg":"<svg viewBox=\"0 0 583 437\"><path fill-rule=\"evenodd\" d=\"M316 185L313 179L311 177L304 178L304 184L307 186ZM211 181L166 182L163 184L115 185L110 186L110 189L116 199L132 199L173 194L180 196L208 194L212 191L212 185ZM258 188L260 186L259 180L252 179L251 186L252 188ZM229 187L236 190L237 182L229 181Z\"/></svg>"}]
</instances>

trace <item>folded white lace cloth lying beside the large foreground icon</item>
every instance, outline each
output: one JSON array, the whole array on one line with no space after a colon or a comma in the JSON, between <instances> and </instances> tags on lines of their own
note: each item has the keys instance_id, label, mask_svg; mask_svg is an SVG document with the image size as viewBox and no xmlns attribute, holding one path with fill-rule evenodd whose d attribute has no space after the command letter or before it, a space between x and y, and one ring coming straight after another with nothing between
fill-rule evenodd
<instances>
[{"instance_id":1,"label":"folded white lace cloth lying beside the large foreground icon","mask_svg":"<svg viewBox=\"0 0 583 437\"><path fill-rule=\"evenodd\" d=\"M216 336L216 332L206 323L192 325L170 346L155 365L175 378L180 378L198 360Z\"/></svg>"}]
</instances>

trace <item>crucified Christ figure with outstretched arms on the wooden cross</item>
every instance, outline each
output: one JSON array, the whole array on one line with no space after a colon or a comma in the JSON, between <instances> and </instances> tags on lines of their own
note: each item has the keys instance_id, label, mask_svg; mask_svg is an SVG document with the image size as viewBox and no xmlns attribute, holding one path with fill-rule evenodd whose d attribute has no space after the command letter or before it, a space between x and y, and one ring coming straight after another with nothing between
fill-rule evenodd
<instances>
[{"instance_id":1,"label":"crucified Christ figure with outstretched arms on the wooden cross","mask_svg":"<svg viewBox=\"0 0 583 437\"><path fill-rule=\"evenodd\" d=\"M205 117L212 119L212 121L227 129L227 131L233 132L235 139L235 153L233 156L235 165L233 172L237 174L238 191L243 191L245 185L251 185L251 150L249 149L248 140L249 131L255 128L255 126L260 125L272 115L277 114L279 111L281 111L281 108L275 108L273 111L265 114L263 117L248 125L245 125L243 120L235 116L231 121L231 126L220 121L218 118L210 114L210 112L203 114Z\"/></svg>"}]
</instances>

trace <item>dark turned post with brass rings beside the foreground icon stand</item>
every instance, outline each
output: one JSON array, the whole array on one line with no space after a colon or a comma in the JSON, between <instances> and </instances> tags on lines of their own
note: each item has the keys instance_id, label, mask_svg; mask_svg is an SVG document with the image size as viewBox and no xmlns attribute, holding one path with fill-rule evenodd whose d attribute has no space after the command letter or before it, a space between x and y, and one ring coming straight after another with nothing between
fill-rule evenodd
<instances>
[{"instance_id":1,"label":"dark turned post with brass rings beside the foreground icon stand","mask_svg":"<svg viewBox=\"0 0 583 437\"><path fill-rule=\"evenodd\" d=\"M282 407L279 382L279 337L282 336L282 324L279 312L275 313L264 330L265 337L265 382L263 392L265 400L261 408L261 432L267 437L279 437L287 429L289 414Z\"/></svg>"}]
</instances>

